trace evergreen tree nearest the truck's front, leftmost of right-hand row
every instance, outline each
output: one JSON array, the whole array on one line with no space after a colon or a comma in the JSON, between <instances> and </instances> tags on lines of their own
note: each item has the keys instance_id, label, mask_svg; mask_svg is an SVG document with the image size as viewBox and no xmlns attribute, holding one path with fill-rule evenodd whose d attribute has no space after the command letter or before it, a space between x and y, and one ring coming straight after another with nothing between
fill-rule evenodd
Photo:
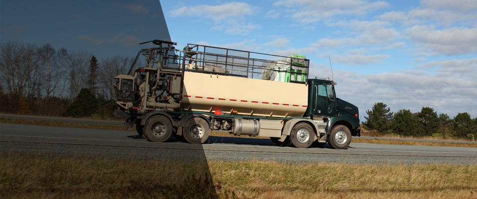
<instances>
[{"instance_id":1,"label":"evergreen tree nearest the truck's front, leftmost of right-hand row","mask_svg":"<svg viewBox=\"0 0 477 199\"><path fill-rule=\"evenodd\" d=\"M375 103L372 110L366 110L368 117L364 117L366 119L365 126L369 130L386 133L386 131L390 130L390 122L393 117L393 112L390 112L390 110L383 102Z\"/></svg>"}]
</instances>

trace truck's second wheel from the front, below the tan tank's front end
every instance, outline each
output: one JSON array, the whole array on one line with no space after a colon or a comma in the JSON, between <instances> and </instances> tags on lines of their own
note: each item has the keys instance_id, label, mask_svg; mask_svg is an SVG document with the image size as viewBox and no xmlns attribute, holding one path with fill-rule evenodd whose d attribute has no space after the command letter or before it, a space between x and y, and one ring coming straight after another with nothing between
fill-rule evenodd
<instances>
[{"instance_id":1,"label":"truck's second wheel from the front, below the tan tank's front end","mask_svg":"<svg viewBox=\"0 0 477 199\"><path fill-rule=\"evenodd\" d=\"M297 148L308 148L315 139L315 131L308 123L298 123L292 128L290 142Z\"/></svg>"}]
</instances>

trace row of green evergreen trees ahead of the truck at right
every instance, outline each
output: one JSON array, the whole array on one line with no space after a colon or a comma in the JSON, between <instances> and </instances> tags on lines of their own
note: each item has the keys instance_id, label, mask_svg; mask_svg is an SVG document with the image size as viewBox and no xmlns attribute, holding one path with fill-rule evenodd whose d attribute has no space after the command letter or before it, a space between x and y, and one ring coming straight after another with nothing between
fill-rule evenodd
<instances>
[{"instance_id":1,"label":"row of green evergreen trees ahead of the truck at right","mask_svg":"<svg viewBox=\"0 0 477 199\"><path fill-rule=\"evenodd\" d=\"M362 127L379 134L397 134L404 136L438 136L472 139L477 131L477 118L472 119L467 112L458 113L450 118L446 113L437 114L431 107L422 107L420 112L412 113L408 109L400 109L396 113L383 102L373 105L367 110L366 121Z\"/></svg>"}]
</instances>

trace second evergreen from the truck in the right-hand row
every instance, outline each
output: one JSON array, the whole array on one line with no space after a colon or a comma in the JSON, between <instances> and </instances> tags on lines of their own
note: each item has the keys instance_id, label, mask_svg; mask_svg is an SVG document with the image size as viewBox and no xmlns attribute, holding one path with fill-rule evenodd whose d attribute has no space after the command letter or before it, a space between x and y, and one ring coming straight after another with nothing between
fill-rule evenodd
<instances>
[{"instance_id":1,"label":"second evergreen from the truck in the right-hand row","mask_svg":"<svg viewBox=\"0 0 477 199\"><path fill-rule=\"evenodd\" d=\"M399 135L411 136L417 135L418 120L413 116L410 110L401 109L394 114L393 131Z\"/></svg>"}]
</instances>

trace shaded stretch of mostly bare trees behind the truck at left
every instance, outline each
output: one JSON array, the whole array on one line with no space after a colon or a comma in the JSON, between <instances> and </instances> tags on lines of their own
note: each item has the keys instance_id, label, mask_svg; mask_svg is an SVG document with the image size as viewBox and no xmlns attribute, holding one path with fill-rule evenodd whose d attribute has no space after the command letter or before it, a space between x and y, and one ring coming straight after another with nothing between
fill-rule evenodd
<instances>
[{"instance_id":1,"label":"shaded stretch of mostly bare trees behind the truck at left","mask_svg":"<svg viewBox=\"0 0 477 199\"><path fill-rule=\"evenodd\" d=\"M2 42L0 111L49 116L110 115L114 106L112 78L127 73L133 62L134 57L127 56L106 57L99 62L92 53L55 49L51 44ZM138 61L136 67L141 63ZM86 97L94 98L74 106L94 111L73 111L75 100Z\"/></svg>"}]
</instances>

